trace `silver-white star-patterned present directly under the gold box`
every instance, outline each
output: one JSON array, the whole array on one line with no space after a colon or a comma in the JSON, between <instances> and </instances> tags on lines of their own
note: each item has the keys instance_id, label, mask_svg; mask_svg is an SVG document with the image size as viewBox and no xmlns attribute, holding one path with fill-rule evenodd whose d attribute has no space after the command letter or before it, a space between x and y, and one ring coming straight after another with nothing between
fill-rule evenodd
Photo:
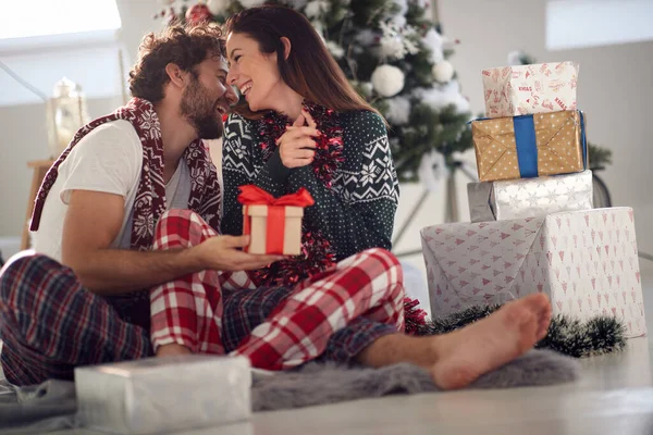
<instances>
[{"instance_id":1,"label":"silver-white star-patterned present directly under the gold box","mask_svg":"<svg viewBox=\"0 0 653 435\"><path fill-rule=\"evenodd\" d=\"M592 171L467 185L471 222L592 209Z\"/></svg>"}]
</instances>

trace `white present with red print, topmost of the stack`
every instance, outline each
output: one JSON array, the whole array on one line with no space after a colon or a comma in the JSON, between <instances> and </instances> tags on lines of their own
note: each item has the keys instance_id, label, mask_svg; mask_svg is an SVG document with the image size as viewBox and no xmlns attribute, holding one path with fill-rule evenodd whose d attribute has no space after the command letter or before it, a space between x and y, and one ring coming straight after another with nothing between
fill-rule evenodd
<instances>
[{"instance_id":1,"label":"white present with red print, topmost of the stack","mask_svg":"<svg viewBox=\"0 0 653 435\"><path fill-rule=\"evenodd\" d=\"M485 116L504 117L575 110L577 62L483 70Z\"/></svg>"}]
</instances>

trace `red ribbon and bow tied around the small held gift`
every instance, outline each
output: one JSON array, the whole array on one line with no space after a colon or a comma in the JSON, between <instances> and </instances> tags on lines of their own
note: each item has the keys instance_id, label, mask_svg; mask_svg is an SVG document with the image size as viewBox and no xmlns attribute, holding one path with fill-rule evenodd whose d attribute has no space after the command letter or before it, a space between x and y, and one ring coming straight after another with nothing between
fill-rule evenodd
<instances>
[{"instance_id":1,"label":"red ribbon and bow tied around the small held gift","mask_svg":"<svg viewBox=\"0 0 653 435\"><path fill-rule=\"evenodd\" d=\"M283 253L283 240L285 233L285 208L308 207L315 203L310 192L301 187L294 194L274 198L270 192L255 186L241 186L238 202L245 206L243 213L243 234L251 234L251 217L248 215L249 206L268 206L268 231L266 232L267 253ZM247 251L247 248L245 249Z\"/></svg>"}]
</instances>

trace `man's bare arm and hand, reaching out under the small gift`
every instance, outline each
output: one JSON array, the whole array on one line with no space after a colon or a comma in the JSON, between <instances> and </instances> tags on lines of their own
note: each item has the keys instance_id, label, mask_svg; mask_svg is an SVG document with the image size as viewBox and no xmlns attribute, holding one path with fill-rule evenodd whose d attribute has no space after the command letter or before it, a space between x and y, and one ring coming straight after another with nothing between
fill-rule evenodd
<instances>
[{"instance_id":1,"label":"man's bare arm and hand, reaching out under the small gift","mask_svg":"<svg viewBox=\"0 0 653 435\"><path fill-rule=\"evenodd\" d=\"M259 269L278 256L239 251L246 236L218 236L188 249L132 251L109 248L123 223L120 195L74 190L63 225L62 262L82 284L99 295L120 295L149 288L202 270Z\"/></svg>"}]
</instances>

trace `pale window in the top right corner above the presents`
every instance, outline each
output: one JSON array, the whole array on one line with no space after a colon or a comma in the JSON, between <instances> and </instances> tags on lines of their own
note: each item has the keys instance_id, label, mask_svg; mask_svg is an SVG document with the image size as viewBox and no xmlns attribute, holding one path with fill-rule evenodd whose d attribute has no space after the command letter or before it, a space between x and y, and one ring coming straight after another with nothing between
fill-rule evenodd
<instances>
[{"instance_id":1,"label":"pale window in the top right corner above the presents","mask_svg":"<svg viewBox=\"0 0 653 435\"><path fill-rule=\"evenodd\" d=\"M546 48L564 50L653 40L651 0L550 0Z\"/></svg>"}]
</instances>

